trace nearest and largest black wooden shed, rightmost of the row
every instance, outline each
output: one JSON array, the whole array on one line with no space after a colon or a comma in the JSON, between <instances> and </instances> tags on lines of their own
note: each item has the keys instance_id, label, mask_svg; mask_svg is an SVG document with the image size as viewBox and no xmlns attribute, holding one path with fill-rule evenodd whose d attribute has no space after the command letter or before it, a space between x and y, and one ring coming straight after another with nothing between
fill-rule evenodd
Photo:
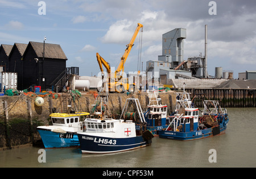
<instances>
[{"instance_id":1,"label":"nearest and largest black wooden shed, rightmost of the row","mask_svg":"<svg viewBox=\"0 0 256 179\"><path fill-rule=\"evenodd\" d=\"M42 90L51 89L52 82L66 71L67 60L59 44L30 41L22 56L22 86L18 89L35 85Z\"/></svg>"}]
</instances>

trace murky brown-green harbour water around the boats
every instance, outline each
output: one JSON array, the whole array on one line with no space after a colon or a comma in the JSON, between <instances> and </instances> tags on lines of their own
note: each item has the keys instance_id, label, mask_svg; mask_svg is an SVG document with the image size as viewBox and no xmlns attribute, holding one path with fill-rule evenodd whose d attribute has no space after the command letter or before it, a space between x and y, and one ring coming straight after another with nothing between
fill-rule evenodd
<instances>
[{"instance_id":1,"label":"murky brown-green harbour water around the boats","mask_svg":"<svg viewBox=\"0 0 256 179\"><path fill-rule=\"evenodd\" d=\"M220 136L193 141L155 137L148 147L108 155L82 154L79 148L46 149L45 163L39 162L41 148L29 146L0 151L0 167L256 167L256 109L233 108L228 114L228 128Z\"/></svg>"}]
</instances>

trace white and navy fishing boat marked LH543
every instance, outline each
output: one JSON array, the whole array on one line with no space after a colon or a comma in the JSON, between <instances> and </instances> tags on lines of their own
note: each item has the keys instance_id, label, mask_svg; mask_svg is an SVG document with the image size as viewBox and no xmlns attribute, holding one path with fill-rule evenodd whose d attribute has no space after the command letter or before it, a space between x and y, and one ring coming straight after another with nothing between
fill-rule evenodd
<instances>
[{"instance_id":1,"label":"white and navy fishing boat marked LH543","mask_svg":"<svg viewBox=\"0 0 256 179\"><path fill-rule=\"evenodd\" d=\"M138 99L126 100L138 102ZM122 152L151 144L154 136L148 130L137 131L133 120L121 119L122 115L120 119L108 118L102 110L97 111L96 115L98 117L86 118L84 122L80 122L77 136L82 153Z\"/></svg>"}]
</instances>

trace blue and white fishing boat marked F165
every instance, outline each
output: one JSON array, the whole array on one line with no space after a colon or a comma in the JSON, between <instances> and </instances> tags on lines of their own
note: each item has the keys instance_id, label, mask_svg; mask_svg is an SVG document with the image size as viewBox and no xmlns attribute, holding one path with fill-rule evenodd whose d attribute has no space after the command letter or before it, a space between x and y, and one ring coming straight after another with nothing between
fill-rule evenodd
<instances>
[{"instance_id":1,"label":"blue and white fishing boat marked F165","mask_svg":"<svg viewBox=\"0 0 256 179\"><path fill-rule=\"evenodd\" d=\"M226 109L218 101L204 100L204 110L195 107L190 93L177 93L175 113L170 116L170 124L159 130L159 138L174 140L195 140L225 133L229 118ZM210 108L213 107L213 108Z\"/></svg>"}]
</instances>

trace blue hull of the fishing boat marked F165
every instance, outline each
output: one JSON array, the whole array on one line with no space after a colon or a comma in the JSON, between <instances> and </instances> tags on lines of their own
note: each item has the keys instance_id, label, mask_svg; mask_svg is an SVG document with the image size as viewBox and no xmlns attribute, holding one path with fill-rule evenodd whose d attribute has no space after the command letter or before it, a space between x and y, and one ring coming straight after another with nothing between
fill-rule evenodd
<instances>
[{"instance_id":1,"label":"blue hull of the fishing boat marked F165","mask_svg":"<svg viewBox=\"0 0 256 179\"><path fill-rule=\"evenodd\" d=\"M173 139L173 140L196 140L208 138L214 135L224 134L227 126L217 126L207 128L200 131L192 132L175 132L175 131L158 131L159 138Z\"/></svg>"}]
</instances>

